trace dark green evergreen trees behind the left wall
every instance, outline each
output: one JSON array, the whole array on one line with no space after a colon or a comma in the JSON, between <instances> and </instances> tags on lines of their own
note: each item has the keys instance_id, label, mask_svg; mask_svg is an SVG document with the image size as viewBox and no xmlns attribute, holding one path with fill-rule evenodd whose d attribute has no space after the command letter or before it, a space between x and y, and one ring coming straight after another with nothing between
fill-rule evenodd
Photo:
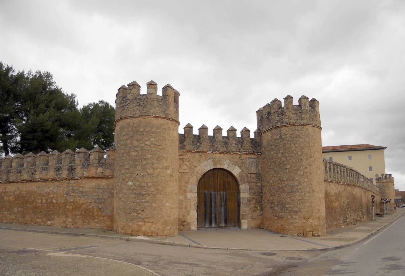
<instances>
[{"instance_id":1,"label":"dark green evergreen trees behind the left wall","mask_svg":"<svg viewBox=\"0 0 405 276\"><path fill-rule=\"evenodd\" d=\"M114 107L77 106L76 95L64 93L51 73L15 72L0 62L0 154L113 145Z\"/></svg>"}]
</instances>

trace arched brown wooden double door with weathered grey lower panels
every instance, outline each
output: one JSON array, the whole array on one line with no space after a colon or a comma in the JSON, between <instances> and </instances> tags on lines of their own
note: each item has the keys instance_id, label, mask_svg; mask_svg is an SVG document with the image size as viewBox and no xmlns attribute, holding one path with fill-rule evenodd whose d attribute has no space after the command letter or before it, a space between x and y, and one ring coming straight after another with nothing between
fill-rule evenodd
<instances>
[{"instance_id":1,"label":"arched brown wooden double door with weathered grey lower panels","mask_svg":"<svg viewBox=\"0 0 405 276\"><path fill-rule=\"evenodd\" d=\"M239 185L224 169L211 169L198 181L197 227L240 227Z\"/></svg>"}]
</instances>

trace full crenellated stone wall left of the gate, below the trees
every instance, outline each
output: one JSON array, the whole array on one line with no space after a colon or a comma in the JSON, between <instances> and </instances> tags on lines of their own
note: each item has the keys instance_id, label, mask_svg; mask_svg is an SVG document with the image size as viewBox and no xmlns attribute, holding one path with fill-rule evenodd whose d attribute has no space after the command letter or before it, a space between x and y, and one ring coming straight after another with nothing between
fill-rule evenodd
<instances>
[{"instance_id":1,"label":"full crenellated stone wall left of the gate, below the trees","mask_svg":"<svg viewBox=\"0 0 405 276\"><path fill-rule=\"evenodd\" d=\"M6 156L0 170L0 221L113 227L114 148Z\"/></svg>"}]
</instances>

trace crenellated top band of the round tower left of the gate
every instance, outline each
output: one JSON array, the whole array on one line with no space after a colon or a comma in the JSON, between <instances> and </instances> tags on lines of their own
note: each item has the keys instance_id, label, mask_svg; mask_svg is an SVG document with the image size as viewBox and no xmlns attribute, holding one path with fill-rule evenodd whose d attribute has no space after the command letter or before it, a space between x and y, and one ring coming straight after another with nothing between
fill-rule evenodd
<instances>
[{"instance_id":1,"label":"crenellated top band of the round tower left of the gate","mask_svg":"<svg viewBox=\"0 0 405 276\"><path fill-rule=\"evenodd\" d=\"M141 86L136 81L118 88L115 122L123 118L141 116L161 117L178 122L180 93L170 84L166 84L162 88L162 95L158 95L158 84L153 80L146 86L146 94L141 94Z\"/></svg>"}]
</instances>

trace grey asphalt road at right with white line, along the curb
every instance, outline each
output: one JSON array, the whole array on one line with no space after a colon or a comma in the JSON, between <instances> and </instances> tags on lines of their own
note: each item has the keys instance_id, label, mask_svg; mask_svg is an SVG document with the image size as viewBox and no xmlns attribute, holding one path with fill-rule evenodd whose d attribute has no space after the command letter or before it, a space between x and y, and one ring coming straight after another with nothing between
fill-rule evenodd
<instances>
[{"instance_id":1,"label":"grey asphalt road at right with white line, along the curb","mask_svg":"<svg viewBox=\"0 0 405 276\"><path fill-rule=\"evenodd\" d=\"M273 275L342 274L405 275L405 217L367 240L350 247L321 253Z\"/></svg>"}]
</instances>

